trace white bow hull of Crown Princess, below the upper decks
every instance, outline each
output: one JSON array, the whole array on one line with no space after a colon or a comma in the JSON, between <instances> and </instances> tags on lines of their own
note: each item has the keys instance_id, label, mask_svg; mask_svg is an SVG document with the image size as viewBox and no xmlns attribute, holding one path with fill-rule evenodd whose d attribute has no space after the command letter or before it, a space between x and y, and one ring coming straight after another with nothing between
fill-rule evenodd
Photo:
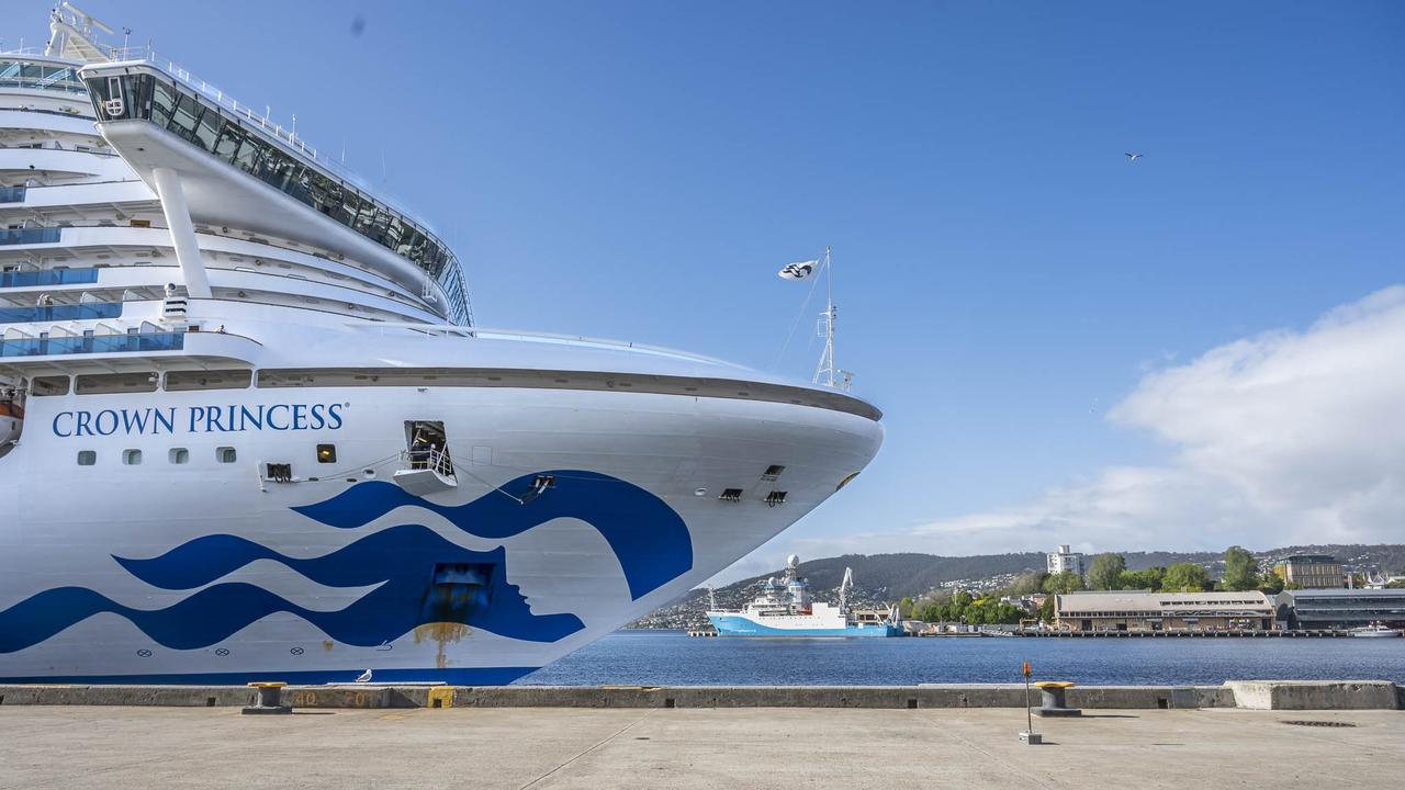
<instances>
[{"instance_id":1,"label":"white bow hull of Crown Princess, below the upper decks","mask_svg":"<svg viewBox=\"0 0 1405 790\"><path fill-rule=\"evenodd\" d=\"M878 444L877 423L853 415L667 395L355 388L240 401L273 406L289 394L340 403L341 425L185 430L192 408L259 391L32 399L31 432L0 460L0 680L318 682L370 668L382 679L507 682L760 545ZM148 408L174 409L176 430L55 436L69 412ZM482 482L461 474L458 491L414 500L386 482L384 460L403 448L405 420L430 416L462 455L481 448L471 471ZM296 470L315 475L308 457L333 441L340 462L327 471L343 475L260 481L259 464L275 460L303 461ZM239 462L218 464L216 448L233 444ZM174 447L188 450L188 464L167 462ZM104 462L76 467L80 448ZM117 462L129 448L142 448L142 465ZM790 461L784 507L718 500L778 458ZM382 464L367 479L372 461ZM506 496L525 493L538 472L555 474L556 486L525 505ZM295 510L358 493L340 522ZM469 510L457 517L454 506ZM674 517L681 531L669 533ZM395 568L400 547L424 557ZM289 566L315 558L327 559ZM503 574L490 616L443 623L424 613L430 565L465 559ZM389 597L377 603L378 590ZM377 617L384 624L367 624Z\"/></svg>"}]
</instances>

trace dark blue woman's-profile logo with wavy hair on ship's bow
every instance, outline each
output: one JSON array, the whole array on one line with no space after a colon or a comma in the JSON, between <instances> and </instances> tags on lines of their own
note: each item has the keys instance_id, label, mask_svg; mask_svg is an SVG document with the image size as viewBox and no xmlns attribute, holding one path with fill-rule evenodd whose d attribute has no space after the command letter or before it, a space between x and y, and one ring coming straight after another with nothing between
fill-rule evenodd
<instances>
[{"instance_id":1,"label":"dark blue woman's-profile logo with wavy hair on ship's bow","mask_svg":"<svg viewBox=\"0 0 1405 790\"><path fill-rule=\"evenodd\" d=\"M530 496L542 475L554 478L554 488ZM294 510L332 529L355 529L407 506L437 513L464 533L489 541L504 541L554 519L586 522L614 551L635 600L693 568L688 529L667 503L636 485L587 471L524 475L457 506L436 505L389 482L365 481ZM506 581L504 545L471 551L423 524L385 527L313 558L289 557L237 536L212 534L159 557L114 559L153 588L204 589L156 610L124 606L87 588L48 589L0 611L0 654L39 644L104 611L125 617L173 649L209 647L278 611L296 614L327 637L357 647L382 645L419 626L443 621L538 642L554 642L584 627L575 614L531 613L525 597ZM246 582L212 583L259 559L280 562L329 588L374 585L374 589L341 610L318 611ZM436 568L444 566L468 569L479 585L472 596L479 604L448 609L429 604L430 579ZM490 571L473 571L482 568Z\"/></svg>"}]
</instances>

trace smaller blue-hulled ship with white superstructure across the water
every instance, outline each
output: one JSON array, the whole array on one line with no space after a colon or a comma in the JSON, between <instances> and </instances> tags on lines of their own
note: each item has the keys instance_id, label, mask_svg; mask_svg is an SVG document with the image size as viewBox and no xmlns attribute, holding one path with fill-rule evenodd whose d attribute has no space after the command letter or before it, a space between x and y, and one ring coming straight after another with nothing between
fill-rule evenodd
<instances>
[{"instance_id":1,"label":"smaller blue-hulled ship with white superstructure across the water","mask_svg":"<svg viewBox=\"0 0 1405 790\"><path fill-rule=\"evenodd\" d=\"M849 607L849 590L854 574L844 568L839 585L839 606L815 603L809 596L809 582L799 575L799 557L785 561L785 575L771 576L762 592L740 610L719 610L715 606L707 619L721 637L901 637L898 614L863 617Z\"/></svg>"}]
</instances>

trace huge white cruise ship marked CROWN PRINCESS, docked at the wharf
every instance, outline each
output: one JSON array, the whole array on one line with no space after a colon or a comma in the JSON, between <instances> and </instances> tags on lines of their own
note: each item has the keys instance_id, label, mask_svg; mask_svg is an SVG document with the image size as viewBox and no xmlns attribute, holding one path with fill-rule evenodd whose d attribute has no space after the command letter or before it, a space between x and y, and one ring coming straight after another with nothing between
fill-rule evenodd
<instances>
[{"instance_id":1,"label":"huge white cruise ship marked CROWN PRINCESS, docked at the wharf","mask_svg":"<svg viewBox=\"0 0 1405 790\"><path fill-rule=\"evenodd\" d=\"M0 682L507 683L878 451L844 385L478 326L326 152L49 22L0 55Z\"/></svg>"}]
</instances>

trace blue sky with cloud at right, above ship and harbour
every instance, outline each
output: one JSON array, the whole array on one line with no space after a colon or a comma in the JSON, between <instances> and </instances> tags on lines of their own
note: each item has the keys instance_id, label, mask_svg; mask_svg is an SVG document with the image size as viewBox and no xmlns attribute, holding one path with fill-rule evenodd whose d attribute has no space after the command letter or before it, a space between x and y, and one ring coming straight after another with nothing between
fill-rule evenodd
<instances>
[{"instance_id":1,"label":"blue sky with cloud at right, above ship and harbour","mask_svg":"<svg viewBox=\"0 0 1405 790\"><path fill-rule=\"evenodd\" d=\"M1201 478L1224 477L1235 464L1204 458L1234 453L1253 465L1262 447L1168 427L1144 406L1186 389L1155 388L1204 381L1234 343L1257 356L1227 375L1301 349L1276 344L1283 332L1345 343L1319 318L1401 281L1399 3L83 6L246 104L296 112L308 141L344 145L372 181L384 153L386 191L455 240L486 326L808 375L808 316L777 361L804 287L774 271L833 246L839 361L887 412L888 440L738 572L794 547L1398 538L1384 516L1293 516L1326 500L1264 510L1277 478L1196 489L1252 513L1092 507L1118 522L1065 505L1097 496L1110 470L1198 458ZM42 42L46 7L7 4L4 44ZM1371 309L1391 319L1391 299ZM1384 357L1390 373L1401 358ZM1388 378L1371 403L1397 394ZM1217 403L1242 406L1242 389ZM1117 409L1128 402L1141 406ZM1324 403L1302 409L1264 433L1294 433ZM1356 427L1309 433L1332 430L1329 450ZM1357 488L1405 479L1398 457L1366 474ZM1065 503L1054 522L1051 500ZM1012 507L1024 527L998 517ZM953 523L993 527L927 529Z\"/></svg>"}]
</instances>

